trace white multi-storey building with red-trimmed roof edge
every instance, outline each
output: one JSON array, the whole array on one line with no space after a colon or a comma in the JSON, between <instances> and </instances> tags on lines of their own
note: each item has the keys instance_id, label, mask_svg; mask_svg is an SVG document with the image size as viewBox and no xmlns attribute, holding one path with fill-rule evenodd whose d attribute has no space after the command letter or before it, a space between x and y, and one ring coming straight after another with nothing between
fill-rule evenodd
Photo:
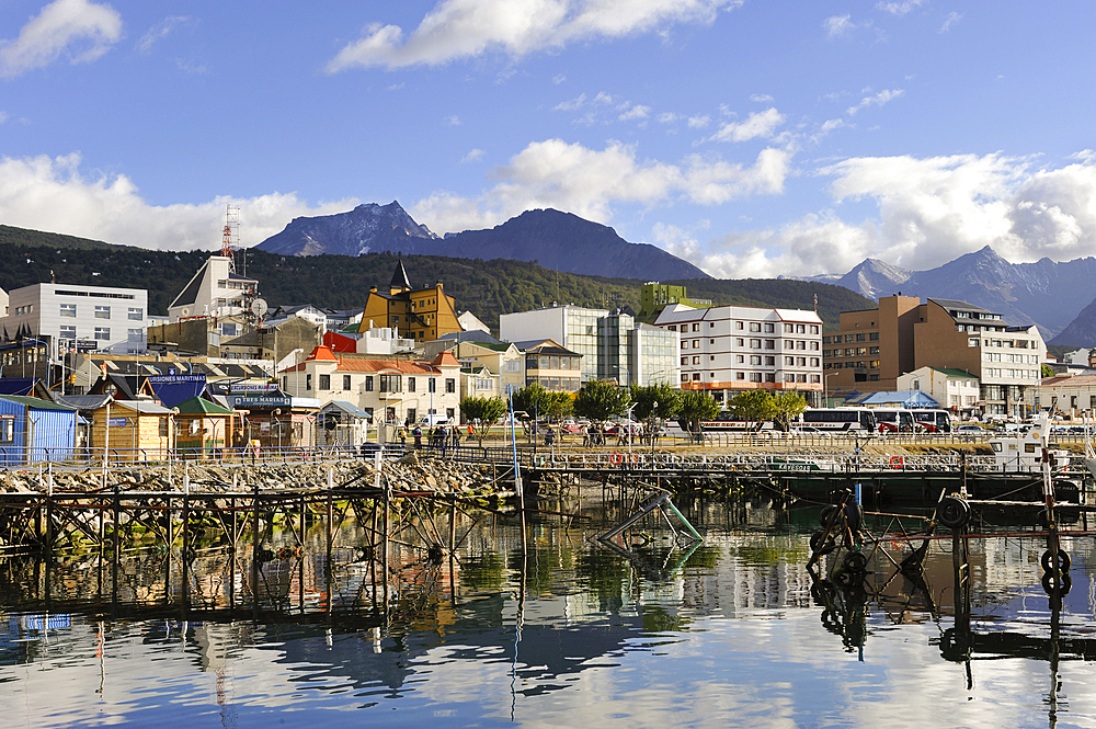
<instances>
[{"instance_id":1,"label":"white multi-storey building with red-trimmed roof edge","mask_svg":"<svg viewBox=\"0 0 1096 729\"><path fill-rule=\"evenodd\" d=\"M795 390L809 402L822 394L822 319L802 309L683 304L654 324L681 338L681 386L726 402L743 390Z\"/></svg>"}]
</instances>

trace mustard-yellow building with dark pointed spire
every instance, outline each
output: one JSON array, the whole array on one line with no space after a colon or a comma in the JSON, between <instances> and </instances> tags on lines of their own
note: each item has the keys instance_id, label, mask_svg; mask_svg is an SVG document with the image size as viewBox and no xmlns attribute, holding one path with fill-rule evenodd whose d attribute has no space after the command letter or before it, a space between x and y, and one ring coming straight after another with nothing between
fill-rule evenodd
<instances>
[{"instance_id":1,"label":"mustard-yellow building with dark pointed spire","mask_svg":"<svg viewBox=\"0 0 1096 729\"><path fill-rule=\"evenodd\" d=\"M369 289L358 332L367 332L374 327L395 327L401 335L416 342L431 342L463 331L457 321L456 300L445 295L442 283L411 288L402 261L396 267L387 294L378 292L376 286Z\"/></svg>"}]
</instances>

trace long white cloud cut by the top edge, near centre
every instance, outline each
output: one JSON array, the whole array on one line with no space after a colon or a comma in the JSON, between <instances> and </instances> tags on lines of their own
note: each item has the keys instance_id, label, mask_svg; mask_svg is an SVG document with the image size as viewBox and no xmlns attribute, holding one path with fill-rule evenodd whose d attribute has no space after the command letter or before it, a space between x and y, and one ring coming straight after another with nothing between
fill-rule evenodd
<instances>
[{"instance_id":1,"label":"long white cloud cut by the top edge, near centre","mask_svg":"<svg viewBox=\"0 0 1096 729\"><path fill-rule=\"evenodd\" d=\"M710 24L743 0L441 0L410 35L374 23L328 64L354 67L438 66L488 53L521 57L569 43L664 33L678 23Z\"/></svg>"}]
</instances>

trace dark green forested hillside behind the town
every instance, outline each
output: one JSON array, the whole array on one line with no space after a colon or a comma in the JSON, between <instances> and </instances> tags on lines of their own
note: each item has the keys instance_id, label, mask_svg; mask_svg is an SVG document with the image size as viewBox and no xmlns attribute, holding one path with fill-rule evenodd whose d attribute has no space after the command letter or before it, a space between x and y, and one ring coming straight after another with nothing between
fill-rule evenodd
<instances>
[{"instance_id":1,"label":"dark green forested hillside behind the town","mask_svg":"<svg viewBox=\"0 0 1096 729\"><path fill-rule=\"evenodd\" d=\"M71 236L0 226L0 288L11 291L34 283L58 283L147 288L149 309L165 315L171 299L182 291L210 252L150 251L110 246ZM469 309L491 327L499 315L540 306L574 304L639 309L642 282L559 273L535 263L511 260L481 261L432 255L400 257L413 286L441 281L460 309ZM313 304L351 309L362 307L369 287L384 289L398 257L370 253L357 258L316 255L295 258L250 250L247 260L237 253L237 265L260 282L260 293L271 305ZM716 304L811 309L814 294L827 331L836 329L837 314L875 306L853 292L827 284L784 280L689 280L680 283L690 296Z\"/></svg>"}]
</instances>

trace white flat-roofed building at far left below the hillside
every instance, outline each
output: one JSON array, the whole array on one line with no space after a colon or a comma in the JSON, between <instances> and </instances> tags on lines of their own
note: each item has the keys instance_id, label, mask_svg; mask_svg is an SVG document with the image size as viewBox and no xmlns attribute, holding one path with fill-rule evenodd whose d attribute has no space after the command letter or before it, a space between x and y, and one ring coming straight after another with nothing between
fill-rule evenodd
<instances>
[{"instance_id":1,"label":"white flat-roofed building at far left below the hillside","mask_svg":"<svg viewBox=\"0 0 1096 729\"><path fill-rule=\"evenodd\" d=\"M0 324L14 335L26 326L49 338L50 358L65 352L142 354L148 328L148 292L144 288L34 284L9 295Z\"/></svg>"}]
</instances>

